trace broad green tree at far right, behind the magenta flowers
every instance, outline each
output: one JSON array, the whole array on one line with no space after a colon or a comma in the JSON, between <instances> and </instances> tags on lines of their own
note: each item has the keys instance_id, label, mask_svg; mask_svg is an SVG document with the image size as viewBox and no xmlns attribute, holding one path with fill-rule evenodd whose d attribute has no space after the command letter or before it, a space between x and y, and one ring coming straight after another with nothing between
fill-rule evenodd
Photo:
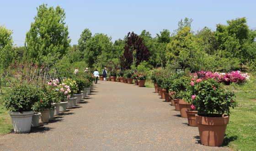
<instances>
[{"instance_id":1,"label":"broad green tree at far right, behind the magenta flowers","mask_svg":"<svg viewBox=\"0 0 256 151\"><path fill-rule=\"evenodd\" d=\"M228 25L218 24L215 32L220 57L238 59L242 65L255 57L255 49L250 47L255 46L256 32L249 30L245 17L227 23Z\"/></svg>"}]
</instances>

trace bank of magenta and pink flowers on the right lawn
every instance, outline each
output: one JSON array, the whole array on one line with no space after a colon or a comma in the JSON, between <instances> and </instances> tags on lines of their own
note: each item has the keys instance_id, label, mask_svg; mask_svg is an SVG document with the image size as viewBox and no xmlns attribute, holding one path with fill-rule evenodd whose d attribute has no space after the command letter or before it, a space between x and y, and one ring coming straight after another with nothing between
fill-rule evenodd
<instances>
[{"instance_id":1,"label":"bank of magenta and pink flowers on the right lawn","mask_svg":"<svg viewBox=\"0 0 256 151\"><path fill-rule=\"evenodd\" d=\"M204 75L203 79L214 78L219 83L225 83L225 84L229 84L231 81L235 83L244 83L246 80L250 79L250 76L248 75L248 73L242 73L240 71L232 71L230 73L218 73L218 72L212 73L210 71L209 72L201 71L199 73L191 73L191 76L193 77L193 79L198 78L197 74Z\"/></svg>"}]
</instances>

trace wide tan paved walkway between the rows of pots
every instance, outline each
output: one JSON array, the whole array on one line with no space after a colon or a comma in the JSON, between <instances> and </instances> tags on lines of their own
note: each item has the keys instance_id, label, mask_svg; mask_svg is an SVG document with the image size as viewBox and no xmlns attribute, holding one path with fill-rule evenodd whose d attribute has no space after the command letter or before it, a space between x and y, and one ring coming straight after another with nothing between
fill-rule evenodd
<instances>
[{"instance_id":1,"label":"wide tan paved walkway between the rows of pots","mask_svg":"<svg viewBox=\"0 0 256 151\"><path fill-rule=\"evenodd\" d=\"M0 151L229 151L198 141L197 127L154 88L98 81L91 95L48 124L0 137Z\"/></svg>"}]
</instances>

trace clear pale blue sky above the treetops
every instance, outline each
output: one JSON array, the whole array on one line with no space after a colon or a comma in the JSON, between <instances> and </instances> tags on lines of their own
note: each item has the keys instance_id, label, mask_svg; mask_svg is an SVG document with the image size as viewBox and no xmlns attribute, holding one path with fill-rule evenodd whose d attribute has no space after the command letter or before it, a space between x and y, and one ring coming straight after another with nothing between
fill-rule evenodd
<instances>
[{"instance_id":1,"label":"clear pale blue sky above the treetops","mask_svg":"<svg viewBox=\"0 0 256 151\"><path fill-rule=\"evenodd\" d=\"M163 29L173 32L185 17L193 19L192 31L205 26L215 31L216 24L238 17L256 27L256 0L0 0L0 24L13 30L16 46L24 46L36 8L43 3L64 8L71 45L78 44L85 28L114 42L129 31L140 35L146 30L153 37Z\"/></svg>"}]
</instances>

